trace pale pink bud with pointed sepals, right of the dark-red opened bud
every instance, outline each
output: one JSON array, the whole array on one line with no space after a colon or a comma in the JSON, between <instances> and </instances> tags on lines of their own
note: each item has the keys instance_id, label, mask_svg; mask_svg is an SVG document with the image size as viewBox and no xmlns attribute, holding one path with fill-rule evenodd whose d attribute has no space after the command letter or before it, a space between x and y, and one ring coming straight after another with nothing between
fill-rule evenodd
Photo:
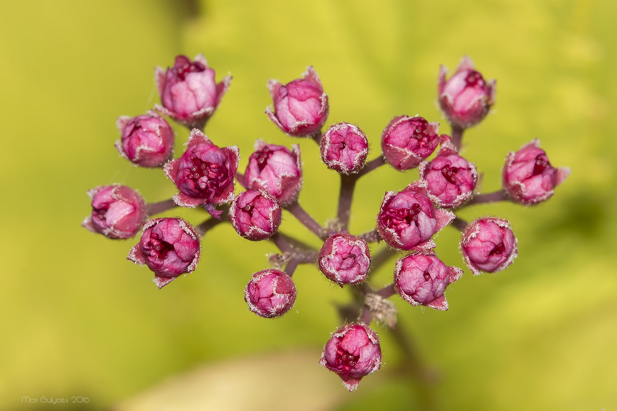
<instances>
[{"instance_id":1,"label":"pale pink bud with pointed sepals, right of the dark-red opened bud","mask_svg":"<svg viewBox=\"0 0 617 411\"><path fill-rule=\"evenodd\" d=\"M267 191L285 207L298 199L302 189L301 167L299 145L292 145L289 151L284 145L257 140L244 173L244 186Z\"/></svg>"}]
</instances>

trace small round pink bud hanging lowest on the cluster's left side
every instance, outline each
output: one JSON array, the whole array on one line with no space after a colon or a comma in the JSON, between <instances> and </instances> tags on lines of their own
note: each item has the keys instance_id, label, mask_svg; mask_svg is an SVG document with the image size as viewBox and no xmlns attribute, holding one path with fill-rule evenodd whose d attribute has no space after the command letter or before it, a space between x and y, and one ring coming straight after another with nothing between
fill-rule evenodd
<instances>
[{"instance_id":1,"label":"small round pink bud hanging lowest on the cluster's left side","mask_svg":"<svg viewBox=\"0 0 617 411\"><path fill-rule=\"evenodd\" d=\"M267 269L253 274L246 285L244 301L249 309L263 318L280 317L296 302L293 280L283 271Z\"/></svg>"}]
</instances>

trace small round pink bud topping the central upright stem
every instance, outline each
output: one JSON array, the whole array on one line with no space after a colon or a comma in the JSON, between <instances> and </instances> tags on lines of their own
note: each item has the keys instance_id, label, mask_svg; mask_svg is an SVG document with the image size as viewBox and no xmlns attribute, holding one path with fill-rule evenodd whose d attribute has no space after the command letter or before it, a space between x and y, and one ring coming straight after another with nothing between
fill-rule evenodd
<instances>
[{"instance_id":1,"label":"small round pink bud topping the central upright stem","mask_svg":"<svg viewBox=\"0 0 617 411\"><path fill-rule=\"evenodd\" d=\"M357 173L368 155L368 139L354 124L338 123L321 137L321 159L339 173Z\"/></svg>"}]
</instances>

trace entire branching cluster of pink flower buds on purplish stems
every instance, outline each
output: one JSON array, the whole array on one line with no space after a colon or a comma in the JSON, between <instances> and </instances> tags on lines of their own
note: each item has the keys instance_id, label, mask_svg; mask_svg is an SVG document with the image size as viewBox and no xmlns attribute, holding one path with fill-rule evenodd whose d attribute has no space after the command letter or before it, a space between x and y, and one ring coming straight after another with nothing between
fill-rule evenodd
<instances>
[{"instance_id":1,"label":"entire branching cluster of pink flower buds on purplish stems","mask_svg":"<svg viewBox=\"0 0 617 411\"><path fill-rule=\"evenodd\" d=\"M323 131L328 95L312 67L287 84L267 82L273 102L265 109L267 118L288 136L315 140L321 160L340 178L336 219L323 226L299 203L300 145L257 140L241 173L238 147L220 147L203 132L231 77L216 83L203 55L194 60L179 55L173 67L155 70L161 104L145 114L118 118L116 143L120 155L134 165L161 169L178 192L169 200L146 203L124 185L96 187L88 192L92 211L82 225L107 238L131 238L141 229L128 259L147 266L159 288L196 270L202 248L207 254L202 237L221 222L230 222L247 240L271 241L279 250L270 256L273 267L252 274L244 291L248 309L268 319L294 306L292 276L299 264L318 267L326 279L354 294L354 301L341 308L346 324L326 342L320 360L352 391L381 367L379 336L369 326L375 319L394 328L396 312L388 298L399 296L410 306L440 311L449 308L445 292L463 270L447 266L437 255L434 238L441 229L451 225L462 232L462 261L474 275L501 271L514 261L517 240L506 219L483 216L468 223L455 213L498 200L536 205L549 199L569 173L568 168L553 167L539 141L532 140L507 155L502 189L478 193L478 170L462 157L460 146L463 132L482 121L495 103L495 81L486 81L468 57L449 79L446 73L444 67L439 71L437 100L452 126L450 136L439 134L436 121L394 116L381 134L381 153L368 161L368 137L357 125L341 122ZM178 158L172 158L175 133L162 115L189 129L186 150ZM410 177L402 190L386 191L375 229L354 234L349 214L355 184L383 165L401 172L417 168L418 177ZM200 208L207 218L197 226L181 218L149 218L175 206ZM320 250L280 232L283 213L320 238ZM386 246L378 250L382 240ZM401 257L394 262L391 283L375 287L371 273L396 253Z\"/></svg>"}]
</instances>

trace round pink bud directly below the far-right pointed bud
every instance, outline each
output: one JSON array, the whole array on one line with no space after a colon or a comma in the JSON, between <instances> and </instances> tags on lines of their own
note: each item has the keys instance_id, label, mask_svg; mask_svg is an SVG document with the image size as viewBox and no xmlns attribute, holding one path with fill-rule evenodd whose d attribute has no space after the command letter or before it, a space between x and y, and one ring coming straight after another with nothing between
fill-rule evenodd
<instances>
[{"instance_id":1,"label":"round pink bud directly below the far-right pointed bud","mask_svg":"<svg viewBox=\"0 0 617 411\"><path fill-rule=\"evenodd\" d=\"M497 272L512 264L518 252L510 223L500 218L481 218L465 228L460 244L463 259L474 275Z\"/></svg>"}]
</instances>

